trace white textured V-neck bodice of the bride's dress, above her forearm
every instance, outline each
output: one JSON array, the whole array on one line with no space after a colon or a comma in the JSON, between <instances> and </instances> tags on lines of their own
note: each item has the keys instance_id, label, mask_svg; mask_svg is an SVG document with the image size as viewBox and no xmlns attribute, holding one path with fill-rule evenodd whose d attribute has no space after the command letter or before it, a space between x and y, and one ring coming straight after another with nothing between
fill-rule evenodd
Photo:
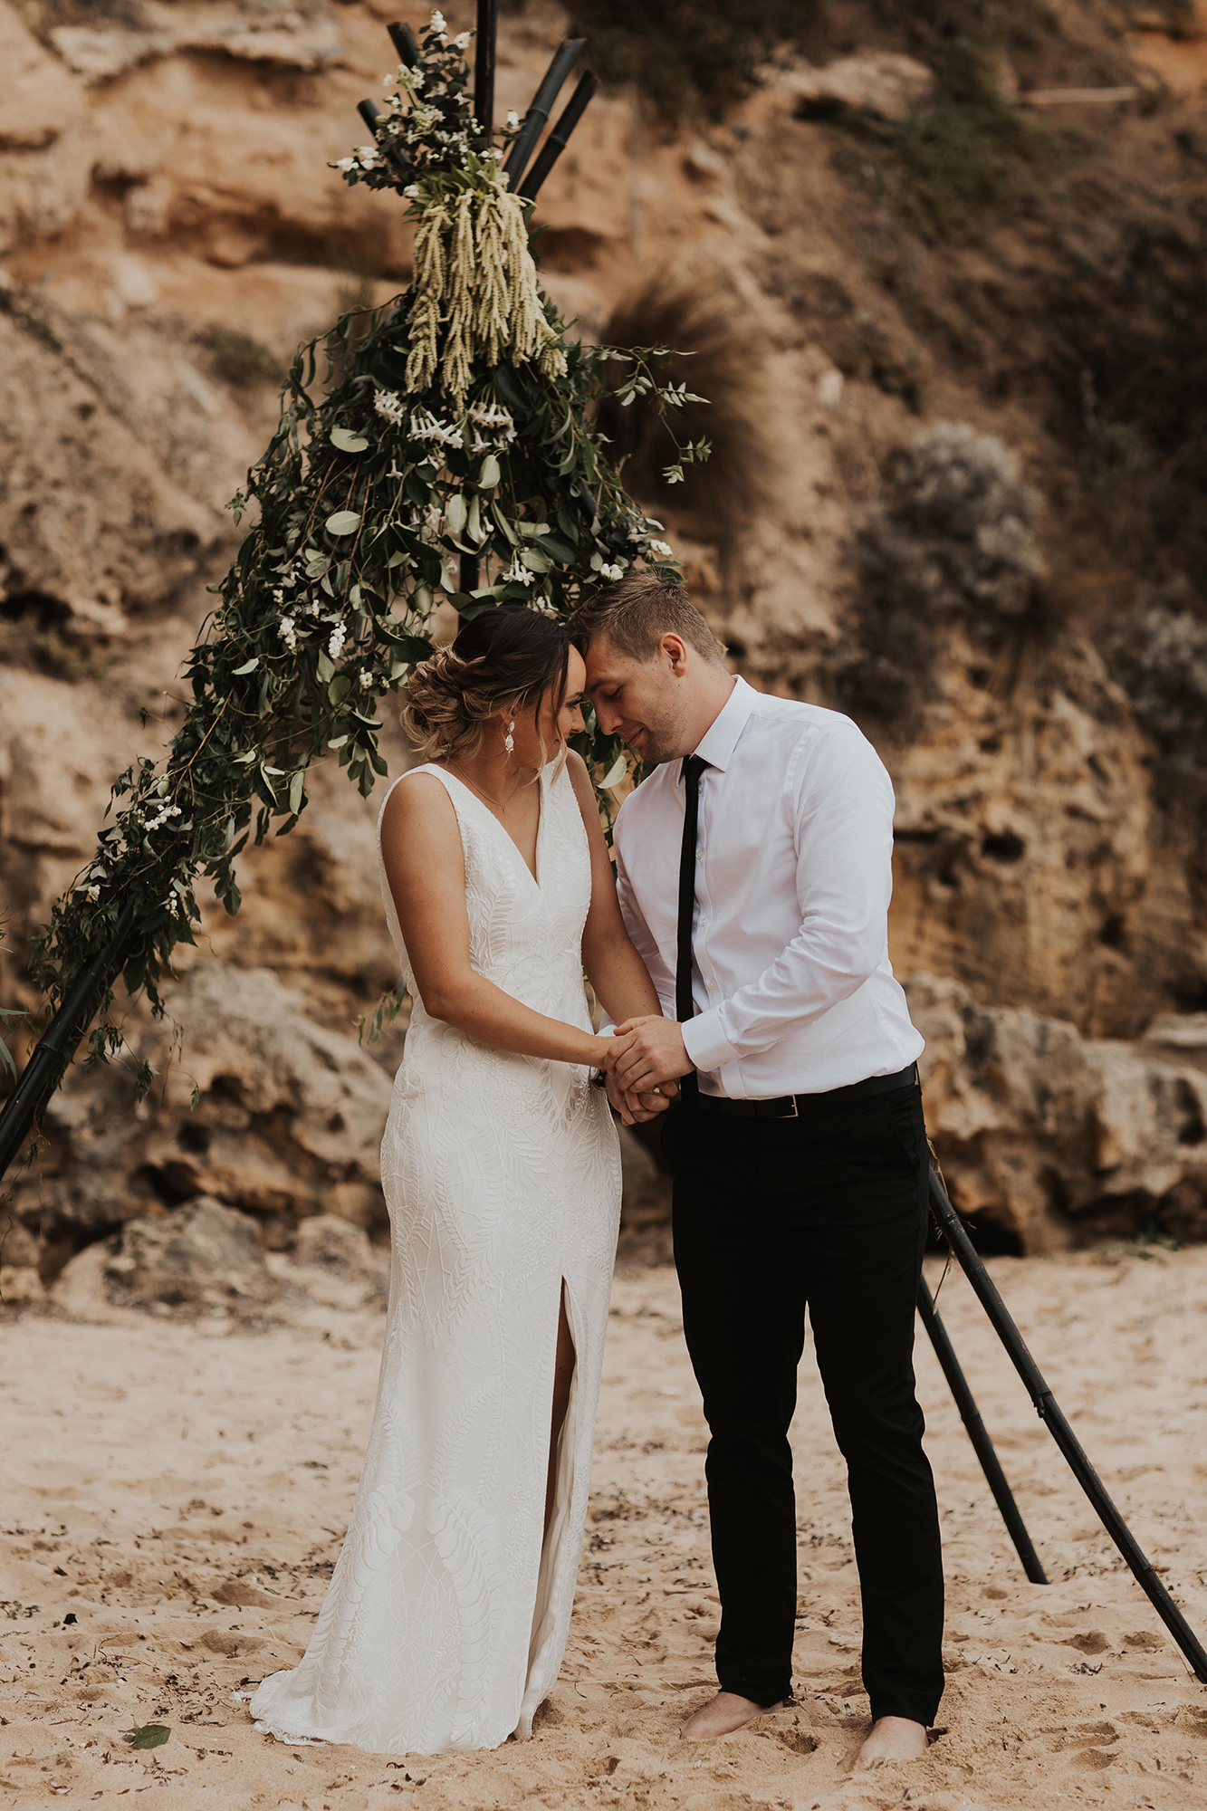
<instances>
[{"instance_id":1,"label":"white textured V-neck bodice of the bride's dress, above her forearm","mask_svg":"<svg viewBox=\"0 0 1207 1811\"><path fill-rule=\"evenodd\" d=\"M495 813L464 781L428 762L404 773L395 786L406 784L413 773L435 775L457 813L473 967L524 1005L587 1029L582 931L591 906L591 851L565 768L555 771L549 764L540 773L535 875ZM384 871L382 902L404 982L415 996L411 962ZM424 1059L430 1023L422 1001L415 1000L408 1061ZM440 1036L448 1032L449 1027L442 1027Z\"/></svg>"}]
</instances>

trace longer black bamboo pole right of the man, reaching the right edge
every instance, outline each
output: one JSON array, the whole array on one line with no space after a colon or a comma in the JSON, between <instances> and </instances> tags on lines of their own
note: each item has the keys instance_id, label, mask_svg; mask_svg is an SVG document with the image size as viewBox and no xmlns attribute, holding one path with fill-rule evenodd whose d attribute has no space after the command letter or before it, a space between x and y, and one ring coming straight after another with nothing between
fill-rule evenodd
<instances>
[{"instance_id":1,"label":"longer black bamboo pole right of the man, reaching the right edge","mask_svg":"<svg viewBox=\"0 0 1207 1811\"><path fill-rule=\"evenodd\" d=\"M997 1293L993 1279L980 1262L980 1255L975 1244L968 1237L968 1228L964 1226L959 1213L951 1206L948 1192L933 1170L930 1172L930 1206L935 1219L939 1221L942 1235L946 1237L948 1244L951 1246L951 1251L959 1259L964 1275L977 1291L980 1306L990 1317L993 1331L1006 1347L1009 1362L1013 1364L1015 1371L1026 1384L1031 1402L1035 1404L1035 1413L1044 1422L1048 1433L1060 1447L1069 1465L1069 1471L1073 1472L1082 1490L1089 1498L1098 1519L1102 1521L1102 1527L1107 1530L1107 1534L1118 1547L1120 1554L1127 1561L1127 1567L1131 1568L1136 1583L1140 1585L1140 1590L1145 1594L1145 1597L1160 1615L1162 1623L1165 1624L1173 1639L1185 1653L1191 1664L1191 1672L1194 1673L1196 1679L1207 1684L1207 1648L1203 1648L1202 1641L1183 1617L1182 1610L1165 1590L1162 1579L1153 1568L1153 1561L1145 1556L1144 1548L1140 1547L1135 1534L1124 1521L1116 1505L1111 1501L1106 1485L1102 1483L1102 1478L1098 1478L1098 1472L1089 1463L1089 1458L1086 1456L1080 1440L1069 1427L1060 1405L1057 1404L1057 1398L1048 1387L1044 1373L1040 1371L1035 1358L1028 1351L1026 1342L1006 1308L1006 1302Z\"/></svg>"}]
</instances>

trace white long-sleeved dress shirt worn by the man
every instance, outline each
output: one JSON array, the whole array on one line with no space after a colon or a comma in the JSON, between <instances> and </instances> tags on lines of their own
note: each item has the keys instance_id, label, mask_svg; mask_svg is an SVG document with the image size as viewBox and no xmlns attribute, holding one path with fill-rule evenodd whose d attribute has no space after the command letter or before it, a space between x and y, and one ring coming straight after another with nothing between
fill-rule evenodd
<instances>
[{"instance_id":1,"label":"white long-sleeved dress shirt worn by the man","mask_svg":"<svg viewBox=\"0 0 1207 1811\"><path fill-rule=\"evenodd\" d=\"M821 1094L915 1061L888 960L893 788L850 717L734 683L700 777L687 1054L705 1094ZM616 817L620 909L674 1018L681 761Z\"/></svg>"}]
</instances>

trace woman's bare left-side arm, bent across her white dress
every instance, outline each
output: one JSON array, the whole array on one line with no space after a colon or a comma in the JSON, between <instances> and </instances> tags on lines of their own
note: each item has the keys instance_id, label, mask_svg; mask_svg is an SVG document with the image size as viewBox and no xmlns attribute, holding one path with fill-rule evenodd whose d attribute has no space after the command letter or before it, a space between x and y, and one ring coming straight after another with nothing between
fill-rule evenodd
<instances>
[{"instance_id":1,"label":"woman's bare left-side arm, bent across her white dress","mask_svg":"<svg viewBox=\"0 0 1207 1811\"><path fill-rule=\"evenodd\" d=\"M381 853L415 987L431 1018L497 1050L560 1063L604 1061L611 1040L533 1012L469 965L466 862L457 813L440 781L417 773L395 786L382 817Z\"/></svg>"}]
</instances>

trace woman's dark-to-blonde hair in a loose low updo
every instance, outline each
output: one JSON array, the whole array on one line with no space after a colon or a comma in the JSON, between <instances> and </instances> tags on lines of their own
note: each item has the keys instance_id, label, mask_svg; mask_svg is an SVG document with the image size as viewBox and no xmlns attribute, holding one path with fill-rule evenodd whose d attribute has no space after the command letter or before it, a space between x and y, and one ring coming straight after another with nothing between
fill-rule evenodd
<instances>
[{"instance_id":1,"label":"woman's dark-to-blonde hair in a loose low updo","mask_svg":"<svg viewBox=\"0 0 1207 1811\"><path fill-rule=\"evenodd\" d=\"M455 761L482 746L498 712L565 695L571 639L564 623L522 603L498 603L464 623L410 677L402 728L424 761Z\"/></svg>"}]
</instances>

